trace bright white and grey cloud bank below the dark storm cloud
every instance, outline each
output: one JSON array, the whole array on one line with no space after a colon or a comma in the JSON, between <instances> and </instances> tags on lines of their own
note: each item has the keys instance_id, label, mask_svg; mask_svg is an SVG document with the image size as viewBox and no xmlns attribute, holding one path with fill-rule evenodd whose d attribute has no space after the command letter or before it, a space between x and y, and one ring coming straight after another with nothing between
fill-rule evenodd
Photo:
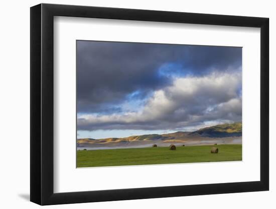
<instances>
[{"instance_id":1,"label":"bright white and grey cloud bank below the dark storm cloud","mask_svg":"<svg viewBox=\"0 0 276 209\"><path fill-rule=\"evenodd\" d=\"M181 129L211 121L241 120L241 72L175 78L138 112L81 115L78 129Z\"/></svg>"}]
</instances>

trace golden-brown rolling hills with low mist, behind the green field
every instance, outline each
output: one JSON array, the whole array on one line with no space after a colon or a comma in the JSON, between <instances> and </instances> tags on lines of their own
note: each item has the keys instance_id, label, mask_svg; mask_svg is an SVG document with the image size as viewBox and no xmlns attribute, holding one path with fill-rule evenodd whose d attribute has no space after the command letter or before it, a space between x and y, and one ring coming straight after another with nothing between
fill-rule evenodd
<instances>
[{"instance_id":1,"label":"golden-brown rolling hills with low mist, behind the green field","mask_svg":"<svg viewBox=\"0 0 276 209\"><path fill-rule=\"evenodd\" d=\"M123 138L81 138L77 139L77 147L88 148L114 148L114 147L147 147L152 144L168 146L168 144L212 144L241 143L242 124L241 122L225 123L205 127L196 131L177 131L165 134L145 134Z\"/></svg>"}]
</instances>

